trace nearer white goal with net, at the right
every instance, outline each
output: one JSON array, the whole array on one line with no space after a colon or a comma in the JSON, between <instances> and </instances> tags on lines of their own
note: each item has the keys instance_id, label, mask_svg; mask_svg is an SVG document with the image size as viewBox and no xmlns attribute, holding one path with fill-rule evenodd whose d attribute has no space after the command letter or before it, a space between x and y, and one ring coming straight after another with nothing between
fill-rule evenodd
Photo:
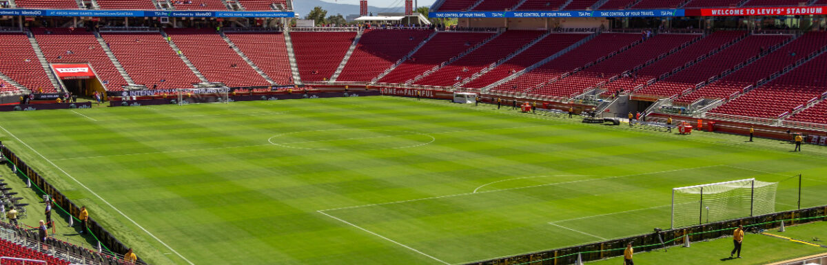
<instances>
[{"instance_id":1,"label":"nearer white goal with net, at the right","mask_svg":"<svg viewBox=\"0 0 827 265\"><path fill-rule=\"evenodd\" d=\"M755 178L672 189L672 229L775 212L777 182Z\"/></svg>"}]
</instances>

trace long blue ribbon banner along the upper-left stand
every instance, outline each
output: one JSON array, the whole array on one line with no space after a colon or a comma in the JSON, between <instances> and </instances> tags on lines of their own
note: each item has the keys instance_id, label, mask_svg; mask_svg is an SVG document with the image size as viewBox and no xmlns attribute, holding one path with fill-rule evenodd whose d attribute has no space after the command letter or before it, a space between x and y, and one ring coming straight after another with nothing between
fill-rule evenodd
<instances>
[{"instance_id":1,"label":"long blue ribbon banner along the upper-left stand","mask_svg":"<svg viewBox=\"0 0 827 265\"><path fill-rule=\"evenodd\" d=\"M294 17L294 12L0 9L0 16L31 17Z\"/></svg>"}]
</instances>

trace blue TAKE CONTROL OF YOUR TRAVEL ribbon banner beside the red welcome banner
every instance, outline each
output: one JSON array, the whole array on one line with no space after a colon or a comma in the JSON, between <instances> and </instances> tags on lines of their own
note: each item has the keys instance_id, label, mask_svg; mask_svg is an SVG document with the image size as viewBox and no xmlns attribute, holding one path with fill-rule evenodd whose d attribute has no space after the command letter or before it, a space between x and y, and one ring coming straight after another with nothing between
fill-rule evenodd
<instances>
[{"instance_id":1,"label":"blue TAKE CONTROL OF YOUR TRAVEL ribbon banner beside the red welcome banner","mask_svg":"<svg viewBox=\"0 0 827 265\"><path fill-rule=\"evenodd\" d=\"M430 12L429 17L683 17L683 9L605 11Z\"/></svg>"}]
</instances>

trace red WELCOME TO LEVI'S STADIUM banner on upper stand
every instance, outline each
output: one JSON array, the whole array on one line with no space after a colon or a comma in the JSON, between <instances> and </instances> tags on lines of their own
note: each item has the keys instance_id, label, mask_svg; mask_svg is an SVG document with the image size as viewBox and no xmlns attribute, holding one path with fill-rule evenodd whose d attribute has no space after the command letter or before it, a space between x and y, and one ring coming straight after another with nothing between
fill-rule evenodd
<instances>
[{"instance_id":1,"label":"red WELCOME TO LEVI'S STADIUM banner on upper stand","mask_svg":"<svg viewBox=\"0 0 827 265\"><path fill-rule=\"evenodd\" d=\"M686 16L796 16L824 15L827 7L754 7L754 8L704 8L686 10Z\"/></svg>"}]
</instances>

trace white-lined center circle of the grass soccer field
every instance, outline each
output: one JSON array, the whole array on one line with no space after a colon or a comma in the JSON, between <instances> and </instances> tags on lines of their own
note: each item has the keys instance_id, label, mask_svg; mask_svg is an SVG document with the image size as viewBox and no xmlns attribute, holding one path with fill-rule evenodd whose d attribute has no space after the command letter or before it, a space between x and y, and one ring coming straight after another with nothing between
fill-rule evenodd
<instances>
[{"instance_id":1,"label":"white-lined center circle of the grass soccer field","mask_svg":"<svg viewBox=\"0 0 827 265\"><path fill-rule=\"evenodd\" d=\"M414 148L435 140L420 132L380 129L305 130L267 139L270 144L290 149L358 151Z\"/></svg>"}]
</instances>

